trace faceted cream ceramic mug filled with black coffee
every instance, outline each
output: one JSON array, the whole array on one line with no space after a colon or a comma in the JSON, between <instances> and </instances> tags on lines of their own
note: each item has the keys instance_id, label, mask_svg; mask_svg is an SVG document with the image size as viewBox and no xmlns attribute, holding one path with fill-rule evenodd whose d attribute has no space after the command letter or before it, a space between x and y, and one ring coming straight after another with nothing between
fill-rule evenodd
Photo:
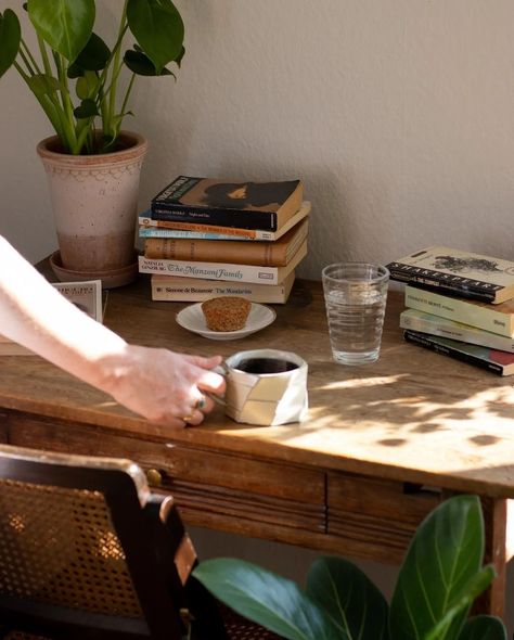
<instances>
[{"instance_id":1,"label":"faceted cream ceramic mug filled with black coffee","mask_svg":"<svg viewBox=\"0 0 514 640\"><path fill-rule=\"evenodd\" d=\"M239 351L216 370L227 381L224 398L217 400L236 422L272 426L307 417L307 362L298 355L280 349Z\"/></svg>"}]
</instances>

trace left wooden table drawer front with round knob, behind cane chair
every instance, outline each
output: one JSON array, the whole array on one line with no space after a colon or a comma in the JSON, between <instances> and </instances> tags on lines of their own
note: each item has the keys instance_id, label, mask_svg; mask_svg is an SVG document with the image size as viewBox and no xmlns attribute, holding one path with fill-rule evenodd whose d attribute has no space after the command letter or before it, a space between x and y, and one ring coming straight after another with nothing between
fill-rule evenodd
<instances>
[{"instance_id":1,"label":"left wooden table drawer front with round knob, behind cane chair","mask_svg":"<svg viewBox=\"0 0 514 640\"><path fill-rule=\"evenodd\" d=\"M13 413L8 423L13 445L136 461L157 490L175 496L185 520L194 524L211 526L213 519L226 517L233 520L233 527L240 526L237 520L255 523L255 535L267 526L325 530L322 472L26 414ZM273 537L284 538L280 530Z\"/></svg>"}]
</instances>

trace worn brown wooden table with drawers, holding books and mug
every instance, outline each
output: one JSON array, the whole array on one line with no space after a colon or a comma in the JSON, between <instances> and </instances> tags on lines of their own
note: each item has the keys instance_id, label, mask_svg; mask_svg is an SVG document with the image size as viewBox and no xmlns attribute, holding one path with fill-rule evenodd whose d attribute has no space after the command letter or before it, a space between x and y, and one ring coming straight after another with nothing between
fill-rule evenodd
<instances>
[{"instance_id":1,"label":"worn brown wooden table with drawers, holding books and mug","mask_svg":"<svg viewBox=\"0 0 514 640\"><path fill-rule=\"evenodd\" d=\"M382 355L331 359L321 285L295 283L277 320L215 342L152 303L147 277L108 294L105 324L126 340L203 355L277 347L309 364L309 418L255 427L220 408L200 427L149 424L37 357L0 360L0 436L18 446L128 457L171 491L190 524L342 555L399 562L420 521L454 491L483 498L499 577L483 610L501 615L507 498L514 498L514 391L498 377L403 342L390 292ZM157 473L155 473L157 472Z\"/></svg>"}]
</instances>

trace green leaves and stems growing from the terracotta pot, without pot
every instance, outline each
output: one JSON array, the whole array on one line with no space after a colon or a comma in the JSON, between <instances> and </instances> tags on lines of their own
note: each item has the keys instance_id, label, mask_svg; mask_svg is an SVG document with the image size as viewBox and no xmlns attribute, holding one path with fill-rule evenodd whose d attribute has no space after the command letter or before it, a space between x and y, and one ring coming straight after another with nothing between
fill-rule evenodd
<instances>
[{"instance_id":1,"label":"green leaves and stems growing from the terracotta pot, without pot","mask_svg":"<svg viewBox=\"0 0 514 640\"><path fill-rule=\"evenodd\" d=\"M125 0L107 46L93 30L94 0L28 0L23 7L38 54L23 38L16 13L5 9L0 13L0 76L10 67L18 72L66 153L115 149L130 114L136 76L171 75L166 65L180 64L184 26L179 11L171 0ZM132 41L124 50L129 36ZM95 136L95 128L102 136Z\"/></svg>"}]
</instances>

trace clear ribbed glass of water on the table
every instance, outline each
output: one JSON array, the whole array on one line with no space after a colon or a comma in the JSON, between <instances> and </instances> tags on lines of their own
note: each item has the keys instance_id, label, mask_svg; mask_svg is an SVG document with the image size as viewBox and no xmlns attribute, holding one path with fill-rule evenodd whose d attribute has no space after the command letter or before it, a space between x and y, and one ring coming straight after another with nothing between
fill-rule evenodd
<instances>
[{"instance_id":1,"label":"clear ribbed glass of water on the table","mask_svg":"<svg viewBox=\"0 0 514 640\"><path fill-rule=\"evenodd\" d=\"M378 359L389 271L370 263L336 263L321 272L332 356L340 364Z\"/></svg>"}]
</instances>

